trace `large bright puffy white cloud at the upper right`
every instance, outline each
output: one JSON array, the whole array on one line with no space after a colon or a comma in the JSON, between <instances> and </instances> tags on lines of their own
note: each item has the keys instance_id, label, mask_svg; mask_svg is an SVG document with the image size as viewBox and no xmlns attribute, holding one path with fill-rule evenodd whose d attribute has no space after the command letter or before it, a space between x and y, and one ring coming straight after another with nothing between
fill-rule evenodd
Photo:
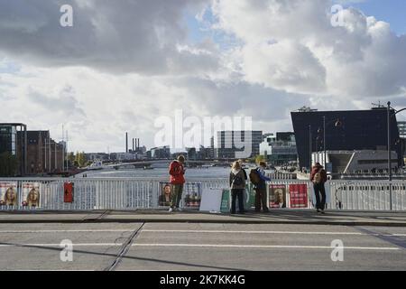
<instances>
[{"instance_id":1,"label":"large bright puffy white cloud at the upper right","mask_svg":"<svg viewBox=\"0 0 406 289\"><path fill-rule=\"evenodd\" d=\"M252 83L288 92L384 98L406 87L406 36L389 23L344 10L330 24L326 0L215 1L215 28L243 41L242 73Z\"/></svg>"}]
</instances>

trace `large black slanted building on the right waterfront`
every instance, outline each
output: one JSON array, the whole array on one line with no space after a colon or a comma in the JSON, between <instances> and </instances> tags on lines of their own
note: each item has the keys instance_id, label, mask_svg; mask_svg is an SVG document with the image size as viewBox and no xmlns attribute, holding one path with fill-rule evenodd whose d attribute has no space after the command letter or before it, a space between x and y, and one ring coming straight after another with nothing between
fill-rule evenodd
<instances>
[{"instance_id":1,"label":"large black slanted building on the right waterfront","mask_svg":"<svg viewBox=\"0 0 406 289\"><path fill-rule=\"evenodd\" d=\"M392 111L393 113L393 111ZM300 167L309 168L310 155L324 149L323 117L326 118L326 150L387 150L386 108L349 111L291 112ZM396 117L391 118L391 147L401 166L401 138Z\"/></svg>"}]
</instances>

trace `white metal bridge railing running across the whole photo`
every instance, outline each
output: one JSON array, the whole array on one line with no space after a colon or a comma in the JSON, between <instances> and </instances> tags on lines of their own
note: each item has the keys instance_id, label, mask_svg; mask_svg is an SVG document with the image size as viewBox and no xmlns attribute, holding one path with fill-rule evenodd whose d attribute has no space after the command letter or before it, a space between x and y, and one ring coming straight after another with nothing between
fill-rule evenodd
<instances>
[{"instance_id":1,"label":"white metal bridge railing running across the whole photo","mask_svg":"<svg viewBox=\"0 0 406 289\"><path fill-rule=\"evenodd\" d=\"M64 202L64 183L74 184L74 201ZM159 208L162 178L3 178L0 179L0 200L7 186L14 186L14 206L2 205L0 210L136 210ZM189 179L201 189L228 188L226 178ZM289 185L306 184L308 207L315 199L312 184L300 180L273 180L269 184L286 186L286 203L290 208ZM28 191L38 188L38 207L23 206ZM390 210L391 190L388 181L329 181L326 183L328 209ZM406 210L406 182L392 181L392 210Z\"/></svg>"}]
</instances>

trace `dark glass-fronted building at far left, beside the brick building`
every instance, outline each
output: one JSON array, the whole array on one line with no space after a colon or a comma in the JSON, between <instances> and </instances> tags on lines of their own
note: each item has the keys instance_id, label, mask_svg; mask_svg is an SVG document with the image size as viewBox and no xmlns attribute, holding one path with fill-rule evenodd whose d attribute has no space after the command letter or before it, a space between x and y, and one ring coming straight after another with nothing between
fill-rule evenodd
<instances>
[{"instance_id":1,"label":"dark glass-fronted building at far left, beside the brick building","mask_svg":"<svg viewBox=\"0 0 406 289\"><path fill-rule=\"evenodd\" d=\"M21 134L23 137L18 138ZM24 124L0 124L0 154L10 154L17 160L17 175L27 171L27 126ZM0 165L6 165L1 164Z\"/></svg>"}]
</instances>

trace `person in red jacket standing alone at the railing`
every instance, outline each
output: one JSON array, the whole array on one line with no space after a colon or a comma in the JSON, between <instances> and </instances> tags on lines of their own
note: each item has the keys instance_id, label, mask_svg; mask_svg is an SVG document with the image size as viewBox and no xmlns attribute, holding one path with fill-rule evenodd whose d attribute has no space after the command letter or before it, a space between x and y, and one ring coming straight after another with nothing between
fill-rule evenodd
<instances>
[{"instance_id":1,"label":"person in red jacket standing alone at the railing","mask_svg":"<svg viewBox=\"0 0 406 289\"><path fill-rule=\"evenodd\" d=\"M183 155L178 156L178 160L171 162L170 164L170 182L173 185L173 191L171 194L171 208L173 210L180 210L179 204L182 198L183 184L185 183L185 157Z\"/></svg>"}]
</instances>

